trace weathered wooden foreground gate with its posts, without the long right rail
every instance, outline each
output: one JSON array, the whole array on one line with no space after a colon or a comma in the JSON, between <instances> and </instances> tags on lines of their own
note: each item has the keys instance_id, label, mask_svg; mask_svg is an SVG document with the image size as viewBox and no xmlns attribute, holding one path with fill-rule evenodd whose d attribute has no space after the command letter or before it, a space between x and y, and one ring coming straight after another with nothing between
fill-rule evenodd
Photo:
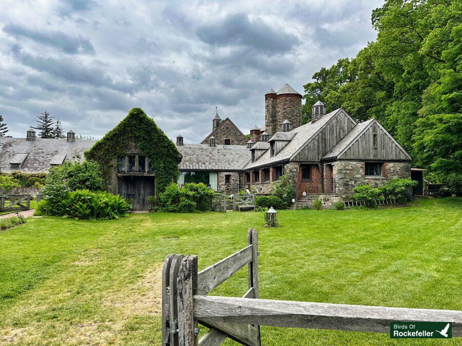
<instances>
[{"instance_id":1,"label":"weathered wooden foreground gate with its posts, without the long right rail","mask_svg":"<svg viewBox=\"0 0 462 346\"><path fill-rule=\"evenodd\" d=\"M222 319L194 318L194 299L211 290L248 266L248 290L244 299L259 297L258 236L249 229L248 245L197 272L197 256L168 255L162 271L162 345L197 345L198 323L210 328L199 345L220 345L227 337L242 344L260 346L260 327L248 323L228 323Z\"/></svg>"}]
</instances>

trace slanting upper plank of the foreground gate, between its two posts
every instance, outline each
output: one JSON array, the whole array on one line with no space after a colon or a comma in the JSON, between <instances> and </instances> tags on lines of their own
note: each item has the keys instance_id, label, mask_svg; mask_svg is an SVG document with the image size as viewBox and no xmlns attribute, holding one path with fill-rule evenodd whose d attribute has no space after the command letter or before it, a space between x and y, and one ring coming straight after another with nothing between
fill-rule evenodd
<instances>
[{"instance_id":1,"label":"slanting upper plank of the foreground gate, between its two posts","mask_svg":"<svg viewBox=\"0 0 462 346\"><path fill-rule=\"evenodd\" d=\"M205 295L252 260L252 245L222 259L198 273L197 294Z\"/></svg>"}]
</instances>

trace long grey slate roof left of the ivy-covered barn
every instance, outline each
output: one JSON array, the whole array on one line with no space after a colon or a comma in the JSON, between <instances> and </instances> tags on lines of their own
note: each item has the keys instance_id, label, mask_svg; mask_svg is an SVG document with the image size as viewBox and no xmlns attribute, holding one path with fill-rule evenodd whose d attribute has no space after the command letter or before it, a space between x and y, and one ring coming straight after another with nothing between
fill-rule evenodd
<instances>
[{"instance_id":1,"label":"long grey slate roof left of the ivy-covered barn","mask_svg":"<svg viewBox=\"0 0 462 346\"><path fill-rule=\"evenodd\" d=\"M0 169L2 172L17 170L26 173L47 172L56 155L66 156L66 159L70 161L83 160L83 153L95 142L96 140L68 142L66 139L26 140L26 138L3 137L0 138ZM17 161L21 155L26 154L28 155L20 169L10 168L10 163L21 164L21 162L12 161Z\"/></svg>"}]
</instances>

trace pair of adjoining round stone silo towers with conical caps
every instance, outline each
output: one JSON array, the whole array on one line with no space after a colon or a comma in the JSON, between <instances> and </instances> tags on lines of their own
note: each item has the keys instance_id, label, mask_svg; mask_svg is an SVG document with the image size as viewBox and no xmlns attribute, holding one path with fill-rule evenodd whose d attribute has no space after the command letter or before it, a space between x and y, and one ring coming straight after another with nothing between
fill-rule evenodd
<instances>
[{"instance_id":1,"label":"pair of adjoining round stone silo towers with conical caps","mask_svg":"<svg viewBox=\"0 0 462 346\"><path fill-rule=\"evenodd\" d=\"M284 120L293 129L301 125L301 99L302 95L288 84L277 93L271 89L265 94L265 130L269 137L281 131Z\"/></svg>"}]
</instances>

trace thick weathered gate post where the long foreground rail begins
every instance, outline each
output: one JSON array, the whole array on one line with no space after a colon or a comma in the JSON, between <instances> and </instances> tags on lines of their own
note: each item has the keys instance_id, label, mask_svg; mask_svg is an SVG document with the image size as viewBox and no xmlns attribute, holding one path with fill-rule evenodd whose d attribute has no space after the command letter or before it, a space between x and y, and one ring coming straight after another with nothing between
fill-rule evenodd
<instances>
[{"instance_id":1,"label":"thick weathered gate post where the long foreground rail begins","mask_svg":"<svg viewBox=\"0 0 462 346\"><path fill-rule=\"evenodd\" d=\"M197 256L188 255L178 272L178 341L182 346L197 346L197 321L193 316L192 297L197 285Z\"/></svg>"}]
</instances>

